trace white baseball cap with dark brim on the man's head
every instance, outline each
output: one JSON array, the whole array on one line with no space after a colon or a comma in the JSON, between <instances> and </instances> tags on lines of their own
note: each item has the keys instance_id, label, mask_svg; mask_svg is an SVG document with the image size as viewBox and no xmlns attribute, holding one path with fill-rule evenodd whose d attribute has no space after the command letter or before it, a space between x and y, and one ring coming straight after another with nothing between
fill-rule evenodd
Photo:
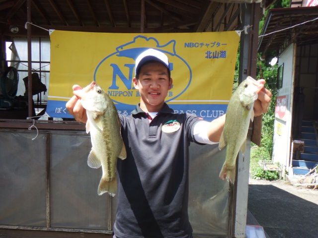
<instances>
[{"instance_id":1,"label":"white baseball cap with dark brim on the man's head","mask_svg":"<svg viewBox=\"0 0 318 238\"><path fill-rule=\"evenodd\" d=\"M137 59L136 59L136 63L135 63L135 75L137 74L138 70L140 69L140 67L147 61L149 60L156 60L159 61L161 63L163 63L164 66L166 66L169 69L169 61L168 58L165 54L163 54L160 51L157 51L155 49L148 49L146 51L144 51L143 53L141 53Z\"/></svg>"}]
</instances>

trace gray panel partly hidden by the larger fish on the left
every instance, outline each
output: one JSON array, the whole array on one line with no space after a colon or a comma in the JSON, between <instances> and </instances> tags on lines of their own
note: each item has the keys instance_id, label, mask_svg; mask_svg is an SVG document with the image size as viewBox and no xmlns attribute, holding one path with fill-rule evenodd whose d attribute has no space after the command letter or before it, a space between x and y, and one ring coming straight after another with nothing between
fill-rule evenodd
<instances>
[{"instance_id":1,"label":"gray panel partly hidden by the larger fish on the left","mask_svg":"<svg viewBox=\"0 0 318 238\"><path fill-rule=\"evenodd\" d=\"M51 136L51 227L108 230L110 197L97 194L101 169L87 166L90 148L87 135Z\"/></svg>"}]
</instances>

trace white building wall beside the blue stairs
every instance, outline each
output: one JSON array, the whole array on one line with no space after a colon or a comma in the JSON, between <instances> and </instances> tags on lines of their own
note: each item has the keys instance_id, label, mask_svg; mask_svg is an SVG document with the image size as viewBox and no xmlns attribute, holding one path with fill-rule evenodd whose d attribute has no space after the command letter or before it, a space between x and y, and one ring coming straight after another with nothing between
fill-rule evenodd
<instances>
[{"instance_id":1,"label":"white building wall beside the blue stairs","mask_svg":"<svg viewBox=\"0 0 318 238\"><path fill-rule=\"evenodd\" d=\"M280 56L278 66L283 65L282 88L278 89L277 97L287 96L285 116L275 116L273 136L273 162L279 162L284 175L289 168L291 123L292 123L292 88L294 84L294 44L291 44Z\"/></svg>"}]
</instances>

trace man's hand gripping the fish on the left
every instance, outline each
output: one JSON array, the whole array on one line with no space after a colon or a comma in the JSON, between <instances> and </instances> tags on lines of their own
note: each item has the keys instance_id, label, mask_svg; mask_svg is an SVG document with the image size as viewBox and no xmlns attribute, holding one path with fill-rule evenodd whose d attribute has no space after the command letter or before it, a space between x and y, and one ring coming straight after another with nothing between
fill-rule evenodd
<instances>
[{"instance_id":1,"label":"man's hand gripping the fish on the left","mask_svg":"<svg viewBox=\"0 0 318 238\"><path fill-rule=\"evenodd\" d=\"M73 91L79 90L81 87L79 85L73 86ZM69 114L72 115L77 121L86 123L87 115L86 110L81 105L80 98L74 95L67 103L66 109L68 110Z\"/></svg>"}]
</instances>

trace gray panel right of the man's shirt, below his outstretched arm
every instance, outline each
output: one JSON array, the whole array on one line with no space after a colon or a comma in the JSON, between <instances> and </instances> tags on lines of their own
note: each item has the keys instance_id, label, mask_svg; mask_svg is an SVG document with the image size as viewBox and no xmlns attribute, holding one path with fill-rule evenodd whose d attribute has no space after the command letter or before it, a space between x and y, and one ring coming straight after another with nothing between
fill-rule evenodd
<instances>
[{"instance_id":1,"label":"gray panel right of the man's shirt, below his outstretched arm","mask_svg":"<svg viewBox=\"0 0 318 238\"><path fill-rule=\"evenodd\" d=\"M189 219L193 235L227 237L230 186L219 178L226 149L219 144L190 146Z\"/></svg>"}]
</instances>

